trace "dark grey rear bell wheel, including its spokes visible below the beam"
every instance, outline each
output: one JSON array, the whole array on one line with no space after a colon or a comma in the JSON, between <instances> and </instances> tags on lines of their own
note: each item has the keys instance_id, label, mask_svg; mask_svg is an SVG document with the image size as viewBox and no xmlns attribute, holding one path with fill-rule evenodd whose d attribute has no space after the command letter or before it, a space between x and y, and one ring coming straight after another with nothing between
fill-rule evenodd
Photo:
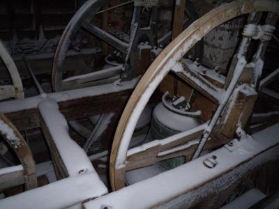
<instances>
[{"instance_id":1,"label":"dark grey rear bell wheel, including its spokes visible below the beam","mask_svg":"<svg viewBox=\"0 0 279 209\"><path fill-rule=\"evenodd\" d=\"M89 0L84 3L84 5L77 10L77 13L75 13L72 20L70 20L68 26L66 26L65 31L63 31L63 35L61 36L61 40L59 41L59 45L56 49L56 54L54 57L54 63L52 68L52 86L54 87L54 91L61 91L66 90L68 88L80 88L84 86L93 86L93 85L101 85L105 84L106 82L113 82L115 79L119 79L119 77L124 73L126 75L133 74L133 67L140 66L142 70L145 70L148 66L150 61L149 60L143 60L140 61L139 59L135 59L136 57L139 57L136 53L137 52L130 52L130 63L133 63L133 66L129 66L130 70L127 70L123 68L126 63L119 63L114 64L115 66L112 66L111 68L106 68L105 70L98 70L96 72L90 72L84 75L77 75L73 77L65 78L63 74L65 74L66 70L63 66L63 63L66 59L66 54L68 49L70 48L71 41L75 38L75 33L77 31L86 31L89 32L90 35L94 35L94 37L98 37L101 40L107 42L107 44L111 45L115 49L117 49L121 54L129 54L129 50L133 51L135 49L138 50L137 45L139 44L139 39L142 41L142 38L147 38L149 40L150 44L152 46L158 45L165 47L167 43L172 40L172 31L169 31L169 33L165 34L163 37L158 37L156 34L156 12L158 10L158 6L154 6L151 10L151 18L150 18L150 26L148 28L140 28L137 30L137 35L135 37L135 44L133 44L133 38L131 38L132 34L130 35L130 40L128 34L126 34L125 40L119 40L119 37L114 37L112 33L107 33L107 31L104 31L103 29L100 29L98 26L92 24L93 18L98 15L98 13L102 13L102 11L98 12L100 8L104 8L104 6L107 6L112 1L93 1ZM197 20L198 15L195 12L195 8L190 4L190 2L186 1L185 10L183 10L183 16L185 17L185 20L178 20L174 21L176 24L175 26L180 26L182 29L189 26L192 22ZM160 7L159 7L160 8ZM133 15L133 21L130 24L130 28L133 28L133 25L135 23L140 22L140 11L142 10L142 7L135 7L134 8L134 15ZM176 13L176 10L174 11ZM182 25L181 25L182 24ZM110 29L112 30L112 29ZM110 31L108 30L108 31ZM119 31L121 33L121 31ZM123 32L122 32L123 33ZM123 33L125 34L125 33ZM124 36L124 35L122 35ZM144 39L144 40L145 40ZM130 47L134 47L135 49L131 49ZM130 49L129 49L130 48ZM150 50L150 49L149 49ZM148 54L148 53L145 53ZM199 59L202 56L202 42L197 45L197 48L195 49L194 56L199 57ZM141 56L143 57L143 56ZM148 56L150 59L150 56ZM107 60L107 59L106 59ZM140 64L144 63L144 64ZM124 66L125 67L125 66ZM123 72L126 71L126 72ZM135 70L135 69L134 69ZM142 71L140 70L140 71ZM132 75L137 76L137 75ZM105 115L103 115L105 116ZM107 116L100 117L100 123L105 123L104 119L107 118ZM91 118L92 119L92 118ZM92 121L92 120L89 120ZM86 142L84 143L84 150L86 152L89 151L89 144L91 144L91 141L93 141L92 136L93 132L89 130L88 128L84 127L81 123L77 121L70 121L69 122L70 127L73 128L80 136L82 136L84 139L86 139ZM93 125L96 125L93 123ZM96 126L95 130L97 129L98 125ZM92 133L92 134L91 134Z\"/></svg>"}]
</instances>

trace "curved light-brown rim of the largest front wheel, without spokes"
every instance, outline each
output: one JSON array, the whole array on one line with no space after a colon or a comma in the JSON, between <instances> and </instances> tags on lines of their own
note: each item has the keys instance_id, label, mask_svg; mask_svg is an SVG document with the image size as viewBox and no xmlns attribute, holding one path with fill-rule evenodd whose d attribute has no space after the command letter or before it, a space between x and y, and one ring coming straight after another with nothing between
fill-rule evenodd
<instances>
[{"instance_id":1,"label":"curved light-brown rim of the largest front wheel, without spokes","mask_svg":"<svg viewBox=\"0 0 279 209\"><path fill-rule=\"evenodd\" d=\"M130 143L133 130L135 129L135 123L140 117L142 109L148 102L153 91L158 84L160 84L165 75L167 75L167 72L171 70L176 64L176 61L179 61L183 54L186 54L186 52L188 52L188 50L193 47L200 38L203 38L216 26L223 22L227 22L234 17L238 17L239 15L248 14L254 11L266 11L278 14L279 1L239 0L211 10L211 12L191 24L188 29L176 37L163 50L163 52L160 53L156 60L153 61L133 91L114 135L110 157L110 180L112 190L123 187L122 178L125 178L123 167L125 167L128 144ZM122 182L117 183L118 180Z\"/></svg>"}]
</instances>

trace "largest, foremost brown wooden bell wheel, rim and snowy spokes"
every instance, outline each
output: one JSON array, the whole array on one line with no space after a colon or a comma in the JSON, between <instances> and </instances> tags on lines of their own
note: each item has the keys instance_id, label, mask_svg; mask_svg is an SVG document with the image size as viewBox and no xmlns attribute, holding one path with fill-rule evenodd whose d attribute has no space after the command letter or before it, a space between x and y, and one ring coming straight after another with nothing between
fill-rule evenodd
<instances>
[{"instance_id":1,"label":"largest, foremost brown wooden bell wheel, rim and snowy spokes","mask_svg":"<svg viewBox=\"0 0 279 209\"><path fill-rule=\"evenodd\" d=\"M243 68L246 68L246 51L239 50L239 56L234 57L235 60L232 61L231 68L235 68L235 70L232 72L232 75L229 74L227 76L223 88L214 86L198 74L195 74L193 70L188 69L185 72L181 59L191 47L220 24L232 20L234 17L259 11L276 13L276 15L278 15L279 2L272 0L234 1L232 3L227 3L224 6L220 6L191 24L188 29L174 39L163 52L160 53L156 60L153 61L142 79L140 79L135 91L133 91L116 129L110 157L110 180L113 190L125 186L126 171L146 167L155 162L171 157L181 155L189 157L194 155L195 158L198 156L195 156L195 154L199 154L204 147L204 143L211 135L212 127L216 125L220 114L239 81ZM250 15L249 17L255 16L257 15L254 13L254 15ZM249 40L249 38L247 38L247 40ZM247 40L246 44L248 43ZM176 134L167 139L163 139L160 142L157 140L152 144L145 144L137 148L137 150L134 149L128 151L130 139L135 130L135 124L137 123L142 110L149 101L149 98L151 98L153 92L170 70L174 71L177 76L186 80L197 90L201 91L206 98L215 103L217 105L215 114L213 114L209 124L205 123L193 130ZM196 146L192 146L193 149L186 149L186 147L190 147L187 142L197 138L201 139L198 141L199 143L196 144ZM172 148L175 150L175 147L181 144L183 144L184 147L180 146L178 153L172 152Z\"/></svg>"}]
</instances>

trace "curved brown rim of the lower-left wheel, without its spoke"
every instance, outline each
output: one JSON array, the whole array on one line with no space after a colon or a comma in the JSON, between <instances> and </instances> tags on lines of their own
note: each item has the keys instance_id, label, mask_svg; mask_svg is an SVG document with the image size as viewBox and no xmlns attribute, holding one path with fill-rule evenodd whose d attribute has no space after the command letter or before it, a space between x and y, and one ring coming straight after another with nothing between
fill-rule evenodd
<instances>
[{"instance_id":1,"label":"curved brown rim of the lower-left wheel, without its spoke","mask_svg":"<svg viewBox=\"0 0 279 209\"><path fill-rule=\"evenodd\" d=\"M27 142L6 116L0 113L0 134L15 151L24 169L25 189L37 187L36 164ZM13 134L11 134L13 132Z\"/></svg>"}]
</instances>

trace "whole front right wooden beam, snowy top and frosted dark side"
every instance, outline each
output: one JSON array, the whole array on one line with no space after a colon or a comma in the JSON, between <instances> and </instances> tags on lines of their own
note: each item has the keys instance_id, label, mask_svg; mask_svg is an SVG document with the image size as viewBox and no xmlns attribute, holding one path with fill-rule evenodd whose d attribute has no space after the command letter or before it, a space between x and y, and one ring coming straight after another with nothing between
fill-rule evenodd
<instances>
[{"instance_id":1,"label":"whole front right wooden beam, snowy top and frosted dark side","mask_svg":"<svg viewBox=\"0 0 279 209\"><path fill-rule=\"evenodd\" d=\"M84 208L190 208L229 188L249 171L279 160L279 123L175 169L83 204ZM204 160L216 156L216 167ZM143 201L144 200L144 201Z\"/></svg>"}]
</instances>

